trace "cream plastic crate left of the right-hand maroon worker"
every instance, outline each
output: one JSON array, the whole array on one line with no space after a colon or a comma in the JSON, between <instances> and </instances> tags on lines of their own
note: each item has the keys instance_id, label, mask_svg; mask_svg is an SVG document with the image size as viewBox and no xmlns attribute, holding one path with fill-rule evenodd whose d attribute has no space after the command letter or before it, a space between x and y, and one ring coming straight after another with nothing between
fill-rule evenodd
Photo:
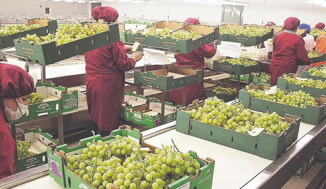
<instances>
[{"instance_id":1,"label":"cream plastic crate left of the right-hand maroon worker","mask_svg":"<svg viewBox=\"0 0 326 189\"><path fill-rule=\"evenodd\" d=\"M268 52L266 48L256 48L254 46L241 47L240 57L246 57L255 61L267 60Z\"/></svg>"}]
</instances>

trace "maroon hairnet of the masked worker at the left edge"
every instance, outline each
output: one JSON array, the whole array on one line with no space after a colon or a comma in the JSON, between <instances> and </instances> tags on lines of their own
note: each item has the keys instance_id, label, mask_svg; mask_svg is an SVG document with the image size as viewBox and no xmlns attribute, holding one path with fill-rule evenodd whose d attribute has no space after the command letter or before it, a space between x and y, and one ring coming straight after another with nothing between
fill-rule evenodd
<instances>
[{"instance_id":1,"label":"maroon hairnet of the masked worker at the left edge","mask_svg":"<svg viewBox=\"0 0 326 189\"><path fill-rule=\"evenodd\" d=\"M0 63L0 98L18 98L34 91L32 76L18 66Z\"/></svg>"}]
</instances>

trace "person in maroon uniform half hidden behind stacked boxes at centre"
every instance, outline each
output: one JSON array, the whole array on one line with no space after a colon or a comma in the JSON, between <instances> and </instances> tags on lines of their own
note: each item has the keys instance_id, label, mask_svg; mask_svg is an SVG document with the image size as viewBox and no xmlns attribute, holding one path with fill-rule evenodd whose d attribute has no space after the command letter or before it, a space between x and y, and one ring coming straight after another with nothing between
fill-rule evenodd
<instances>
[{"instance_id":1,"label":"person in maroon uniform half hidden behind stacked boxes at centre","mask_svg":"<svg viewBox=\"0 0 326 189\"><path fill-rule=\"evenodd\" d=\"M187 23L200 24L196 18L188 18ZM188 66L191 68L204 69L204 58L210 59L216 53L216 48L213 43L208 43L189 53L175 55L176 66ZM204 93L203 82L186 87L186 104L191 104L193 100L202 99ZM170 92L170 101L177 104L182 104L183 89L177 89Z\"/></svg>"}]
</instances>

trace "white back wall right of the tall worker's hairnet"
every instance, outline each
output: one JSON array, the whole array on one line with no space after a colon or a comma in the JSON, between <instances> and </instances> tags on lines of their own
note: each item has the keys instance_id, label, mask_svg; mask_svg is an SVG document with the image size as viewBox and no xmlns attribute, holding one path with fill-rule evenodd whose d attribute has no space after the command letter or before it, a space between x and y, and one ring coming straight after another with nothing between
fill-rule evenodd
<instances>
[{"instance_id":1,"label":"white back wall right of the tall worker's hairnet","mask_svg":"<svg viewBox=\"0 0 326 189\"><path fill-rule=\"evenodd\" d=\"M185 20L188 17L199 17L202 21L220 22L222 6L186 3L177 0L158 0L158 4L130 4L102 2L102 6L111 6L118 10L120 16L152 19ZM238 0L240 1L240 0ZM326 22L326 7L305 3L305 0L243 0L249 3L244 7L243 23L266 23L274 21L282 25L289 16L297 17L301 23L314 26L317 22Z\"/></svg>"}]
</instances>

